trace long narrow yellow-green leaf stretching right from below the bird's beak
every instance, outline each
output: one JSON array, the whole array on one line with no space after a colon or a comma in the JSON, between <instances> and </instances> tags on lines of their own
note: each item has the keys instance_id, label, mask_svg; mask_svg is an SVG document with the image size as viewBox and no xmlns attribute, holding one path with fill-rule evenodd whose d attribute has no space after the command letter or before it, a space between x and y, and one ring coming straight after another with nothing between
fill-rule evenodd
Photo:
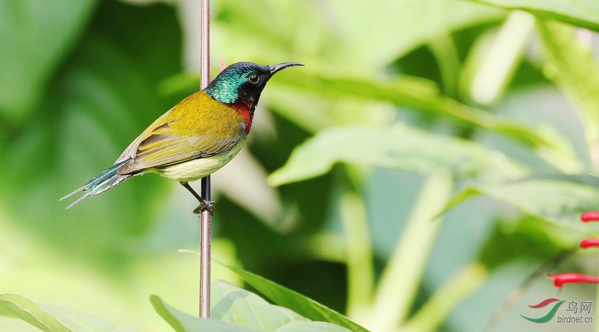
<instances>
[{"instance_id":1,"label":"long narrow yellow-green leaf stretching right from below the bird's beak","mask_svg":"<svg viewBox=\"0 0 599 332\"><path fill-rule=\"evenodd\" d=\"M277 74L275 80L289 88L326 98L361 98L393 102L416 110L453 117L518 141L564 173L576 174L583 170L583 164L574 153L570 141L553 127L543 124L537 128L529 128L521 123L501 119L492 113L441 95L434 84L425 79L404 77L377 82L370 79L326 76L322 73L310 74L307 71L288 71Z\"/></svg>"}]
</instances>

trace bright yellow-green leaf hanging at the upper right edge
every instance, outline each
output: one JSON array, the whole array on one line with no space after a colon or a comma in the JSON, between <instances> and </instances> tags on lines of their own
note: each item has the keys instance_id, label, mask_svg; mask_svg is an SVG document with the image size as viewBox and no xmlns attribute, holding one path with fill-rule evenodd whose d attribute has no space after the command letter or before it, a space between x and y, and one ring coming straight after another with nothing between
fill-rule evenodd
<instances>
[{"instance_id":1,"label":"bright yellow-green leaf hanging at the upper right edge","mask_svg":"<svg viewBox=\"0 0 599 332\"><path fill-rule=\"evenodd\" d=\"M597 14L599 18L599 2ZM588 46L576 38L574 28L552 20L539 20L547 78L570 97L585 127L591 159L599 158L599 64ZM597 165L595 165L597 168Z\"/></svg>"}]
</instances>

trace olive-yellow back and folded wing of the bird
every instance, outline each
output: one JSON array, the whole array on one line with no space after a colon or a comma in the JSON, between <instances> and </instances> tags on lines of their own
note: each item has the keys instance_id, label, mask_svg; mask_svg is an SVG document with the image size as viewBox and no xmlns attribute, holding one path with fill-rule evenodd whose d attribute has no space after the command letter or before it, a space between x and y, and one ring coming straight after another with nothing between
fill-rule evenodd
<instances>
[{"instance_id":1,"label":"olive-yellow back and folded wing of the bird","mask_svg":"<svg viewBox=\"0 0 599 332\"><path fill-rule=\"evenodd\" d=\"M123 152L119 160L131 161L119 168L119 174L226 153L241 141L245 129L243 119L232 108L211 98L201 98L199 103L185 99Z\"/></svg>"}]
</instances>

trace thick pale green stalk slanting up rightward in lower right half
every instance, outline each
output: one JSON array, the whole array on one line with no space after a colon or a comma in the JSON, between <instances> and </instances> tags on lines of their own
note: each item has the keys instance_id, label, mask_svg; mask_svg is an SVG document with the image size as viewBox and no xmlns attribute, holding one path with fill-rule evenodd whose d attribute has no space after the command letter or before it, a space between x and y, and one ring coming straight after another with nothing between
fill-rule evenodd
<instances>
[{"instance_id":1,"label":"thick pale green stalk slanting up rightward in lower right half","mask_svg":"<svg viewBox=\"0 0 599 332\"><path fill-rule=\"evenodd\" d=\"M368 325L372 331L395 330L406 319L441 227L443 217L433 218L449 200L452 189L453 177L447 170L433 171L426 178L400 242L383 271Z\"/></svg>"}]
</instances>

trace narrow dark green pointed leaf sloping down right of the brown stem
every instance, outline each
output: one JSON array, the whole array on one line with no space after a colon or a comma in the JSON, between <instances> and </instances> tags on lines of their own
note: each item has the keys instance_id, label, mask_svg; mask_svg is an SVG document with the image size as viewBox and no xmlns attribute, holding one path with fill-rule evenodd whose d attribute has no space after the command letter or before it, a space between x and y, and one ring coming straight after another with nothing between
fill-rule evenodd
<instances>
[{"instance_id":1,"label":"narrow dark green pointed leaf sloping down right of the brown stem","mask_svg":"<svg viewBox=\"0 0 599 332\"><path fill-rule=\"evenodd\" d=\"M223 264L225 265L225 264ZM294 310L299 315L317 322L330 322L340 327L348 328L354 332L368 332L364 327L356 324L335 310L329 309L326 306L307 298L298 292L285 288L277 283L274 283L264 277L258 276L251 272L241 270L240 268L225 265L235 274L241 277L253 288L268 297L271 301L279 306Z\"/></svg>"}]
</instances>

